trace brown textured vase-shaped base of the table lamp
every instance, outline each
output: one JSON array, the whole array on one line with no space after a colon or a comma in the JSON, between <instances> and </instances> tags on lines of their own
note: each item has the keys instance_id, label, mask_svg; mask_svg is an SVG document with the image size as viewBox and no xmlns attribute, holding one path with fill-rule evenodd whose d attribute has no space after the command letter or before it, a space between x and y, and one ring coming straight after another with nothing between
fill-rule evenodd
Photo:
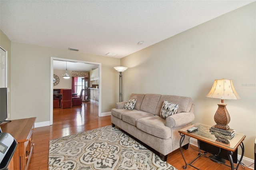
<instances>
[{"instance_id":1,"label":"brown textured vase-shaped base of the table lamp","mask_svg":"<svg viewBox=\"0 0 256 170\"><path fill-rule=\"evenodd\" d=\"M226 104L219 103L218 106L219 107L214 115L214 121L216 122L215 127L228 130L229 129L228 123L230 122L230 116L226 109Z\"/></svg>"}]
</instances>

